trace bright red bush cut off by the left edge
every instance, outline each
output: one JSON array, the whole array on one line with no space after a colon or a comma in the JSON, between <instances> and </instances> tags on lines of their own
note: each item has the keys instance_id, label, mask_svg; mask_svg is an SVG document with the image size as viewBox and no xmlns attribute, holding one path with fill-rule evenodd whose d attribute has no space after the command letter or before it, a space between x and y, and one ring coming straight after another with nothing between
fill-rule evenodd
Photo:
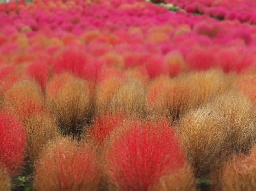
<instances>
[{"instance_id":1,"label":"bright red bush cut off by the left edge","mask_svg":"<svg viewBox=\"0 0 256 191\"><path fill-rule=\"evenodd\" d=\"M22 124L7 111L0 112L0 166L15 175L25 150L26 134Z\"/></svg>"}]
</instances>

